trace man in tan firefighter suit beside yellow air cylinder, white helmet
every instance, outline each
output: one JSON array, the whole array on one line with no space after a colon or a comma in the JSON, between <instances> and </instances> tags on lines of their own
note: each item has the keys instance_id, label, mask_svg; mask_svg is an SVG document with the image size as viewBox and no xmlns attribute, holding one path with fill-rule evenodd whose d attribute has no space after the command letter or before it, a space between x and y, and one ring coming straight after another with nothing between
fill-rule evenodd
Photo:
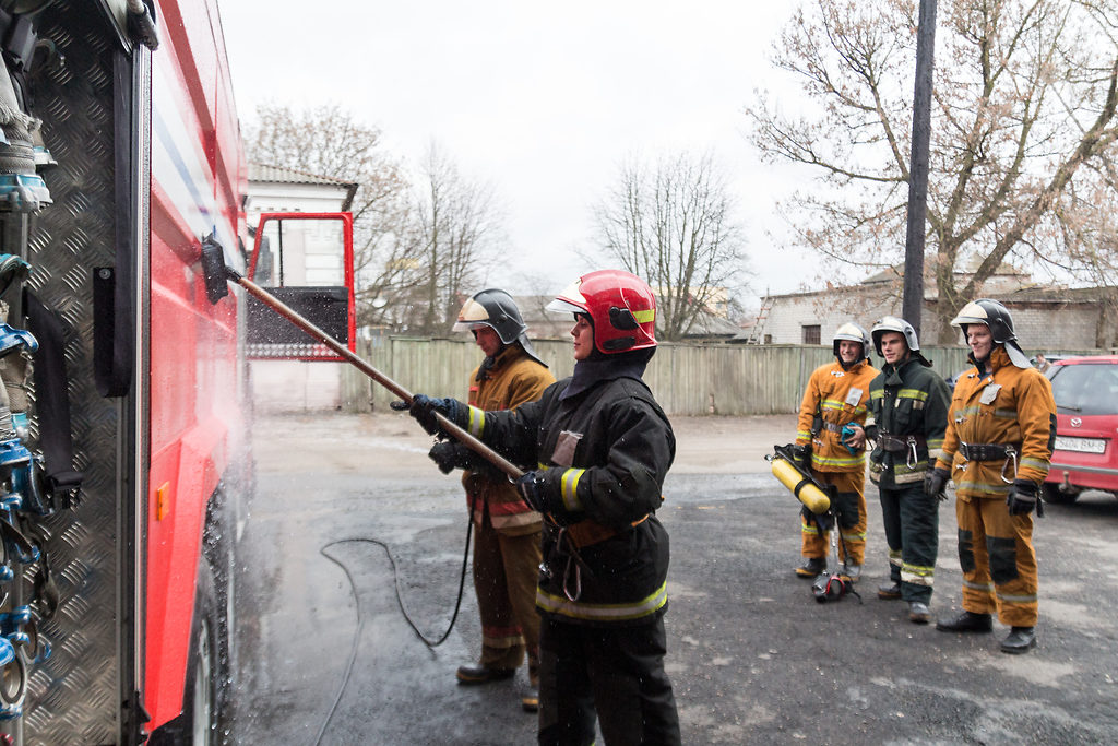
<instances>
[{"instance_id":1,"label":"man in tan firefighter suit beside yellow air cylinder, white helmet","mask_svg":"<svg viewBox=\"0 0 1118 746\"><path fill-rule=\"evenodd\" d=\"M840 572L856 580L865 559L868 525L862 425L869 413L870 381L878 370L870 365L870 336L856 323L839 327L832 349L835 361L816 368L807 381L792 452L802 466L811 468L819 483L835 487L835 518L842 539ZM827 567L830 519L805 507L799 522L805 561L796 568L796 575L814 578Z\"/></svg>"}]
</instances>

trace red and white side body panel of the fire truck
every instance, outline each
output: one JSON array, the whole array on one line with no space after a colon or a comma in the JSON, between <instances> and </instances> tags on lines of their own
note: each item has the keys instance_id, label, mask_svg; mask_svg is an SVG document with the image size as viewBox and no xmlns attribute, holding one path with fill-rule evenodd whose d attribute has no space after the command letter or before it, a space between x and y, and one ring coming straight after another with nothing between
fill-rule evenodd
<instances>
[{"instance_id":1,"label":"red and white side body panel of the fire truck","mask_svg":"<svg viewBox=\"0 0 1118 746\"><path fill-rule=\"evenodd\" d=\"M240 134L214 0L162 2L153 55L151 347L143 705L179 715L210 495L244 452L237 301L206 300L199 242L244 240ZM216 38L215 38L216 37ZM228 262L236 264L235 257Z\"/></svg>"}]
</instances>

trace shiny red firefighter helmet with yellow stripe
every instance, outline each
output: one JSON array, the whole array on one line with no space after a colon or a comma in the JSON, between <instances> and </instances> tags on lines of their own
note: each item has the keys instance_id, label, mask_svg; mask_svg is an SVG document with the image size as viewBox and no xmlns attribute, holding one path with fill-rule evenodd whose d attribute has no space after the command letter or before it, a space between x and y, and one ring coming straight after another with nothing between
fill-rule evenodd
<instances>
[{"instance_id":1,"label":"shiny red firefighter helmet with yellow stripe","mask_svg":"<svg viewBox=\"0 0 1118 746\"><path fill-rule=\"evenodd\" d=\"M613 355L656 347L656 296L623 270L598 270L548 303L548 311L586 313L594 321L594 346Z\"/></svg>"}]
</instances>

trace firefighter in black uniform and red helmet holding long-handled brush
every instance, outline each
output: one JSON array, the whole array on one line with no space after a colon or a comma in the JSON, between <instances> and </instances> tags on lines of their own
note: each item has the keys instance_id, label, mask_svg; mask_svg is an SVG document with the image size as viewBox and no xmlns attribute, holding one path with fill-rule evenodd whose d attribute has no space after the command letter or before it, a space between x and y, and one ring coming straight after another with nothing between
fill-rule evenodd
<instances>
[{"instance_id":1,"label":"firefighter in black uniform and red helmet holding long-handled brush","mask_svg":"<svg viewBox=\"0 0 1118 746\"><path fill-rule=\"evenodd\" d=\"M655 511L675 456L671 424L642 380L655 352L655 296L638 277L584 275L548 306L575 314L575 372L512 412L416 395L529 469L520 490L544 516L536 603L540 744L679 744L664 672L667 532Z\"/></svg>"}]
</instances>

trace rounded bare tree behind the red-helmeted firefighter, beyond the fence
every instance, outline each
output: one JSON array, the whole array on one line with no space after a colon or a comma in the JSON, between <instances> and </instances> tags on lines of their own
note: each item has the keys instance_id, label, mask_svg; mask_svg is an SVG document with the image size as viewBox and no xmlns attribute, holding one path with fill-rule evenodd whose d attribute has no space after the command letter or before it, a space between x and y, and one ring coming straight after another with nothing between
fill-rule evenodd
<instances>
[{"instance_id":1,"label":"rounded bare tree behind the red-helmeted firefighter, beyond the fence","mask_svg":"<svg viewBox=\"0 0 1118 746\"><path fill-rule=\"evenodd\" d=\"M681 339L703 313L732 318L745 261L732 209L710 154L664 157L651 168L631 158L595 208L600 248L655 290L663 339Z\"/></svg>"}]
</instances>

